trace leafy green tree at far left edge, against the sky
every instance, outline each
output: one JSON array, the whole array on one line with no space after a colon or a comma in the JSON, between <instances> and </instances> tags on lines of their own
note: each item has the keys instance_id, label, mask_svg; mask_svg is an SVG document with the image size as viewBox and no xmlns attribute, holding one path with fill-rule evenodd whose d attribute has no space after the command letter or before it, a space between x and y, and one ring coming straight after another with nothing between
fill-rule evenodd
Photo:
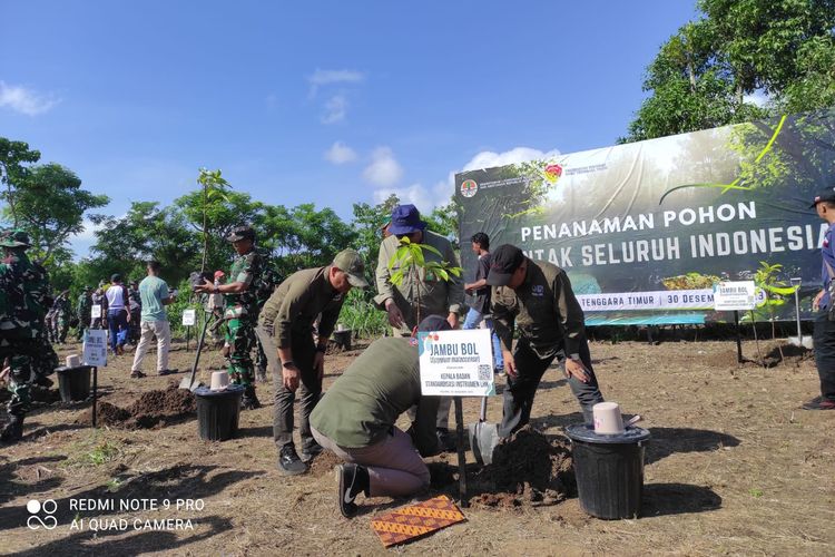
<instances>
[{"instance_id":1,"label":"leafy green tree at far left edge, against the sky","mask_svg":"<svg viewBox=\"0 0 835 557\"><path fill-rule=\"evenodd\" d=\"M85 214L110 202L106 195L81 189L81 179L56 163L28 168L9 199L3 217L17 217L41 263L67 260L69 237L84 231Z\"/></svg>"}]
</instances>

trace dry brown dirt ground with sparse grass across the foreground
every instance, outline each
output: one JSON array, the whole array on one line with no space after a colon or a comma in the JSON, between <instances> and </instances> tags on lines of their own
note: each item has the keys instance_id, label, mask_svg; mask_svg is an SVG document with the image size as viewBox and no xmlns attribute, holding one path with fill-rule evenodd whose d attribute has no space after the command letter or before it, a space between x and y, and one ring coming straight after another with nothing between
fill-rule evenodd
<instances>
[{"instance_id":1,"label":"dry brown dirt ground with sparse grass across the foreground","mask_svg":"<svg viewBox=\"0 0 835 557\"><path fill-rule=\"evenodd\" d=\"M768 348L760 343L763 355ZM77 351L78 346L68 346L60 355ZM757 356L753 342L745 343L744 352ZM326 384L357 353L330 355ZM789 351L786 362L777 367L740 367L734 343L715 341L595 342L591 353L606 398L619 402L627 414L644 416L642 427L652 436L640 518L590 518L576 496L547 506L479 505L463 509L465 522L392 550L436 555L835 554L835 412L799 410L803 401L818 393L813 360ZM153 368L150 358L146 371ZM186 370L193 358L194 352L177 345L171 365ZM208 369L218 368L222 361L209 353L203 364L205 381ZM102 402L135 408L144 392L166 390L171 379L183 377L131 380L129 365L130 356L125 355L100 370ZM176 419L92 430L85 419L88 403L40 404L27 420L24 441L0 446L0 553L389 551L371 530L371 519L407 501L362 501L361 497L361 516L345 520L336 506L332 457L320 457L305 476L279 476L272 440L272 385L259 385L265 407L243 412L238 438L225 442L199 440L196 418L187 411ZM500 400L490 401L491 421L501 417ZM464 422L474 421L478 409L478 400L465 400ZM556 446L563 441L563 427L580 420L556 368L543 378L532 416L532 424ZM451 479L444 462L453 465L455 458L433 460L433 470L443 468ZM443 483L433 478L426 497L455 495ZM27 509L30 500L42 505L37 515ZM99 510L89 510L91 505ZM50 510L57 526L48 529ZM46 526L32 521L32 516Z\"/></svg>"}]
</instances>

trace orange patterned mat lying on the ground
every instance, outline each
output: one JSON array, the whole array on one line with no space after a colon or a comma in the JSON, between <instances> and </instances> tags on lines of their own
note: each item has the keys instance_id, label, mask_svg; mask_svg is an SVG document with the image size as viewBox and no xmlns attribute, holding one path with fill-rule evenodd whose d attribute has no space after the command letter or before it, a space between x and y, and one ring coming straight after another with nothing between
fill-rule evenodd
<instances>
[{"instance_id":1,"label":"orange patterned mat lying on the ground","mask_svg":"<svg viewBox=\"0 0 835 557\"><path fill-rule=\"evenodd\" d=\"M405 544L433 531L466 520L452 499L442 495L416 505L401 507L371 520L384 547Z\"/></svg>"}]
</instances>

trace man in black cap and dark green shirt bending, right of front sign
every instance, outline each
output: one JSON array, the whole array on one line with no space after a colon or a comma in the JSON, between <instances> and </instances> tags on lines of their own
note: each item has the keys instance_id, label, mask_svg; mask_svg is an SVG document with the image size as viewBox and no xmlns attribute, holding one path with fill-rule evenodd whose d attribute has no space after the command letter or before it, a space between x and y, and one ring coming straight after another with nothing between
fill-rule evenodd
<instances>
[{"instance_id":1,"label":"man in black cap and dark green shirt bending, right of front sign","mask_svg":"<svg viewBox=\"0 0 835 557\"><path fill-rule=\"evenodd\" d=\"M530 421L539 381L554 358L563 362L568 384L591 423L591 407L603 395L591 368L582 309L566 272L504 244L493 252L487 283L493 286L493 322L508 374L499 434L510 436Z\"/></svg>"}]
</instances>

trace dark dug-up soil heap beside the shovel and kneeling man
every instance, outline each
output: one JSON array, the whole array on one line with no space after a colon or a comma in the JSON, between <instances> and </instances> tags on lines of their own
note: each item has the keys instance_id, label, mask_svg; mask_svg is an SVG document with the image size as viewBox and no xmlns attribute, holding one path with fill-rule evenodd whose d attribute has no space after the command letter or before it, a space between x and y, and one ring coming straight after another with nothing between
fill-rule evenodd
<instances>
[{"instance_id":1,"label":"dark dug-up soil heap beside the shovel and kneeling man","mask_svg":"<svg viewBox=\"0 0 835 557\"><path fill-rule=\"evenodd\" d=\"M474 470L468 487L481 491L470 499L473 506L557 505L577 492L571 444L525 426L499 443L493 462Z\"/></svg>"}]
</instances>

